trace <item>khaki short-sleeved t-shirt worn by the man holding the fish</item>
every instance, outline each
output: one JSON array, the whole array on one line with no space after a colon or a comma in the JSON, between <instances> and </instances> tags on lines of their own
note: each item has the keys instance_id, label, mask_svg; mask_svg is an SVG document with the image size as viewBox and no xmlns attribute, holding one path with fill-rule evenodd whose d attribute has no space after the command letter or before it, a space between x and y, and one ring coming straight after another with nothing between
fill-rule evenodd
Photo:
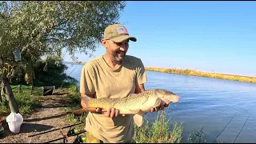
<instances>
[{"instance_id":1,"label":"khaki short-sleeved t-shirt worn by the man holding the fish","mask_svg":"<svg viewBox=\"0 0 256 144\"><path fill-rule=\"evenodd\" d=\"M96 93L96 98L125 98L134 94L138 84L146 81L141 59L126 55L121 66L112 70L100 56L82 67L80 93ZM106 118L89 112L85 129L103 142L127 142L134 136L134 119L133 115Z\"/></svg>"}]
</instances>

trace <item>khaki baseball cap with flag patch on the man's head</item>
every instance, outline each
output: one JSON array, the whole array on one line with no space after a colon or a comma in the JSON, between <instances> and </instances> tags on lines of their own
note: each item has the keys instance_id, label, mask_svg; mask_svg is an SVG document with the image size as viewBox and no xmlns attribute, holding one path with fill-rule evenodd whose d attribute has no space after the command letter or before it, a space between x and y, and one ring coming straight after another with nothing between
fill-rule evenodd
<instances>
[{"instance_id":1,"label":"khaki baseball cap with flag patch on the man's head","mask_svg":"<svg viewBox=\"0 0 256 144\"><path fill-rule=\"evenodd\" d=\"M136 38L130 37L126 27L120 24L113 24L107 26L104 31L104 39L111 40L113 42L122 42L126 39L130 39L134 42L137 41Z\"/></svg>"}]
</instances>

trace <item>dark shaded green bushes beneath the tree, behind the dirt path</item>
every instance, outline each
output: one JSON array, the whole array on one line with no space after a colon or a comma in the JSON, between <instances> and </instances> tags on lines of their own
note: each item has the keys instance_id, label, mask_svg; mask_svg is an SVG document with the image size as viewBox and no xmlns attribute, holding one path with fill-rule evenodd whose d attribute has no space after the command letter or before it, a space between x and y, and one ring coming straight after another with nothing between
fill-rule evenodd
<instances>
[{"instance_id":1,"label":"dark shaded green bushes beneath the tree, behind the dirt path","mask_svg":"<svg viewBox=\"0 0 256 144\"><path fill-rule=\"evenodd\" d=\"M26 67L22 64L18 67L19 72L10 79L10 84L27 85L24 78ZM34 86L55 86L56 88L74 86L78 81L65 74L67 68L63 59L58 56L47 56L38 60L34 63Z\"/></svg>"}]
</instances>

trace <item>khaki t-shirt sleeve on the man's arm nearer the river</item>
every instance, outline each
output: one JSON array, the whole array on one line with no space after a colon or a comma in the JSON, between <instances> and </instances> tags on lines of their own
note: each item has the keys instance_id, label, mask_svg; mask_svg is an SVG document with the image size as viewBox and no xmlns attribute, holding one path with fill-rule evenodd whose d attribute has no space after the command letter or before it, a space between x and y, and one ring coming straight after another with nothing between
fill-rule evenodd
<instances>
[{"instance_id":1,"label":"khaki t-shirt sleeve on the man's arm nearer the river","mask_svg":"<svg viewBox=\"0 0 256 144\"><path fill-rule=\"evenodd\" d=\"M136 67L136 74L137 74L137 82L136 82L137 85L147 82L146 70L141 59L138 60L138 66Z\"/></svg>"}]
</instances>

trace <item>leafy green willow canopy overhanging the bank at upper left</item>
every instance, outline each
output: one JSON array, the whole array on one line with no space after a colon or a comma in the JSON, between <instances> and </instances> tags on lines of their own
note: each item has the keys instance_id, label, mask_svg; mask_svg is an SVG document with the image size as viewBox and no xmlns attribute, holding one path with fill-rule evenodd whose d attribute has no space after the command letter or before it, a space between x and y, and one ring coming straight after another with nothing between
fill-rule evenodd
<instances>
[{"instance_id":1,"label":"leafy green willow canopy overhanging the bank at upper left","mask_svg":"<svg viewBox=\"0 0 256 144\"><path fill-rule=\"evenodd\" d=\"M91 54L125 6L122 1L1 1L1 63L13 66L12 51L18 47L26 62L26 82L33 85L34 61L61 55L63 48L74 61L77 52Z\"/></svg>"}]
</instances>

